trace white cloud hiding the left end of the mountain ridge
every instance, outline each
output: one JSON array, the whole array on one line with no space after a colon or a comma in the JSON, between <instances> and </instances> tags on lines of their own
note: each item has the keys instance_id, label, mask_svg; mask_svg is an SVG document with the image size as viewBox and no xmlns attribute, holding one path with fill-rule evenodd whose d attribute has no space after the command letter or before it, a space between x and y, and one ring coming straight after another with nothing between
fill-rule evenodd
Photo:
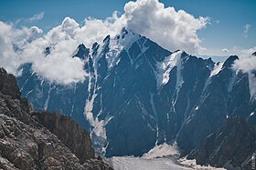
<instances>
[{"instance_id":1,"label":"white cloud hiding the left end of the mountain ridge","mask_svg":"<svg viewBox=\"0 0 256 170\"><path fill-rule=\"evenodd\" d=\"M50 82L68 85L83 81L86 76L83 62L79 58L71 57L77 42L71 38L73 33L69 28L75 23L69 25L64 21L62 25L43 36L38 36L42 30L36 26L15 29L13 25L0 22L0 66L18 75L17 68L20 65L32 63L37 75ZM55 44L54 48L45 57L43 51L52 44ZM14 49L14 45L18 47L18 52Z\"/></svg>"}]
</instances>

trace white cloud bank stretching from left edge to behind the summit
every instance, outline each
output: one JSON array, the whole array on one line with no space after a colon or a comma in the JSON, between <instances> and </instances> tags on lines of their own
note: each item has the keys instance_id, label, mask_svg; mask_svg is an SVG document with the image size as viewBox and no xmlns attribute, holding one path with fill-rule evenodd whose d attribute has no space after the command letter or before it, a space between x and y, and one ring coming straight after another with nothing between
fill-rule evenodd
<instances>
[{"instance_id":1,"label":"white cloud bank stretching from left edge to behind the summit","mask_svg":"<svg viewBox=\"0 0 256 170\"><path fill-rule=\"evenodd\" d=\"M43 15L34 18L38 20ZM69 85L86 78L83 62L70 57L80 44L91 47L95 42L101 43L106 35L113 37L126 27L170 51L181 49L198 54L203 47L197 31L208 25L208 17L195 18L183 10L165 7L158 0L137 0L127 3L122 15L113 12L104 20L88 17L83 25L79 25L66 17L45 35L37 26L17 29L15 25L4 22L0 25L0 66L18 75L16 71L20 65L32 63L37 75L50 82ZM22 50L16 52L14 45ZM48 45L55 46L45 57L43 51Z\"/></svg>"}]
</instances>

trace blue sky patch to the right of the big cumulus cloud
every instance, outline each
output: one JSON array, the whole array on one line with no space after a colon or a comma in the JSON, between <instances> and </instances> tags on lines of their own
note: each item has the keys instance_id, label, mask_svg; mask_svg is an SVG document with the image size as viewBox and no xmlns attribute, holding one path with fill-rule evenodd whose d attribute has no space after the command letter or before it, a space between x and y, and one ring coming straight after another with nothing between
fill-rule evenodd
<instances>
[{"instance_id":1,"label":"blue sky patch to the right of the big cumulus cloud","mask_svg":"<svg viewBox=\"0 0 256 170\"><path fill-rule=\"evenodd\" d=\"M254 0L186 0L171 1L176 9L211 18L211 25L199 32L204 45L213 48L240 45L247 48L255 45L256 1ZM219 21L219 24L217 22ZM244 38L243 26L251 25L248 37Z\"/></svg>"}]
</instances>

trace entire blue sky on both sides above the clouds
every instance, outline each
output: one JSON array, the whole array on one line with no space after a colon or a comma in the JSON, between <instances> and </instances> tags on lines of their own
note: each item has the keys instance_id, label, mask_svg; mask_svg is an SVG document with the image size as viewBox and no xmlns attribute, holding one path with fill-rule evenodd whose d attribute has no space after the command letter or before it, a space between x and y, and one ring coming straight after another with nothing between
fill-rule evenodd
<instances>
[{"instance_id":1,"label":"entire blue sky on both sides above the clouds","mask_svg":"<svg viewBox=\"0 0 256 170\"><path fill-rule=\"evenodd\" d=\"M66 16L82 24L84 18L105 19L117 10L123 14L127 0L2 0L0 20L16 23L16 26L37 25L46 33L51 27L59 25ZM195 17L210 18L210 24L198 31L201 45L209 49L209 54L223 55L223 48L248 49L254 47L256 39L256 1L254 0L160 0L176 10L185 10ZM33 15L43 12L41 20L28 21ZM245 25L248 25L247 32Z\"/></svg>"}]
</instances>

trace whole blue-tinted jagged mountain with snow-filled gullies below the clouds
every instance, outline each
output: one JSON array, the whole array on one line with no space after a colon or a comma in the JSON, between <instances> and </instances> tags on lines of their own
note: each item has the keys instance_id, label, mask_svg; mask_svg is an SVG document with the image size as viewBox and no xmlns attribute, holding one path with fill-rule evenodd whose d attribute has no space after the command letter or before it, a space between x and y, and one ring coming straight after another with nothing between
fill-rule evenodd
<instances>
[{"instance_id":1,"label":"whole blue-tinted jagged mountain with snow-filled gullies below the clouds","mask_svg":"<svg viewBox=\"0 0 256 170\"><path fill-rule=\"evenodd\" d=\"M69 115L91 132L106 156L143 155L174 140L187 155L229 116L256 124L255 73L234 70L238 56L215 63L126 29L74 51L70 57L88 74L84 82L52 84L23 65L18 85L36 109Z\"/></svg>"}]
</instances>

